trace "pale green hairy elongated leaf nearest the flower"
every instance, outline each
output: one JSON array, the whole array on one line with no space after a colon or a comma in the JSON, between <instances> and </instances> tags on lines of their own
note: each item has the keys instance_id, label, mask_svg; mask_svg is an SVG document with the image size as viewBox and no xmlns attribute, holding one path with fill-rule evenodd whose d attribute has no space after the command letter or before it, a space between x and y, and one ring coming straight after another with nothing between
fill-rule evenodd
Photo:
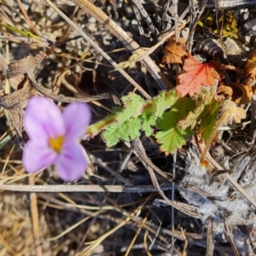
<instances>
[{"instance_id":1,"label":"pale green hairy elongated leaf nearest the flower","mask_svg":"<svg viewBox=\"0 0 256 256\"><path fill-rule=\"evenodd\" d=\"M179 98L175 90L162 91L158 96L148 101L141 96L129 94L122 97L124 108L117 108L116 113L95 125L90 125L86 134L94 137L102 132L102 137L108 147L112 147L120 140L130 141L140 136L141 131L149 137L157 120Z\"/></svg>"}]
</instances>

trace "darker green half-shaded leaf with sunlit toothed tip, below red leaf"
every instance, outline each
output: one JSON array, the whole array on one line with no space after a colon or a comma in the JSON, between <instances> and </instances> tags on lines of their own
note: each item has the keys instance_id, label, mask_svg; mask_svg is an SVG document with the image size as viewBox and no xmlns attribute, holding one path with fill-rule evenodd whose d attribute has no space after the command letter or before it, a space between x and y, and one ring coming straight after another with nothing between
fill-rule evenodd
<instances>
[{"instance_id":1,"label":"darker green half-shaded leaf with sunlit toothed tip, below red leaf","mask_svg":"<svg viewBox=\"0 0 256 256\"><path fill-rule=\"evenodd\" d=\"M163 114L160 119L156 133L157 142L160 143L160 150L170 154L175 148L181 148L186 143L185 136L190 136L192 131L178 127L178 122L195 108L195 102L190 98L180 98L173 105L172 109Z\"/></svg>"}]
</instances>

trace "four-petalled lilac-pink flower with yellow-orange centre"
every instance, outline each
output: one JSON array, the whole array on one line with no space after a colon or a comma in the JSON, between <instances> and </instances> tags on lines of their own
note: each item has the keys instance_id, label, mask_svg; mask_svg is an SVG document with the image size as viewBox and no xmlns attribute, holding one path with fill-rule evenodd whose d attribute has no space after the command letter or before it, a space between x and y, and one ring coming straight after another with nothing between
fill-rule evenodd
<instances>
[{"instance_id":1,"label":"four-petalled lilac-pink flower with yellow-orange centre","mask_svg":"<svg viewBox=\"0 0 256 256\"><path fill-rule=\"evenodd\" d=\"M69 104L61 113L54 102L34 96L26 107L25 131L30 138L23 151L26 172L55 166L61 179L74 181L82 177L88 163L80 145L90 124L90 107L81 102Z\"/></svg>"}]
</instances>

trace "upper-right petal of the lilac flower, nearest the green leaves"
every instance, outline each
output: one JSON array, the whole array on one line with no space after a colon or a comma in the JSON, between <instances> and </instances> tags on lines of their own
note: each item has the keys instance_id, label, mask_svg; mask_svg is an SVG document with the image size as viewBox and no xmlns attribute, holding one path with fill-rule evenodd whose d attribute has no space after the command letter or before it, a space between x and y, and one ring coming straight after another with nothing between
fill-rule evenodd
<instances>
[{"instance_id":1,"label":"upper-right petal of the lilac flower, nearest the green leaves","mask_svg":"<svg viewBox=\"0 0 256 256\"><path fill-rule=\"evenodd\" d=\"M90 124L90 107L82 102L69 104L63 110L63 119L66 127L67 141L79 140L83 137L87 126Z\"/></svg>"}]
</instances>

